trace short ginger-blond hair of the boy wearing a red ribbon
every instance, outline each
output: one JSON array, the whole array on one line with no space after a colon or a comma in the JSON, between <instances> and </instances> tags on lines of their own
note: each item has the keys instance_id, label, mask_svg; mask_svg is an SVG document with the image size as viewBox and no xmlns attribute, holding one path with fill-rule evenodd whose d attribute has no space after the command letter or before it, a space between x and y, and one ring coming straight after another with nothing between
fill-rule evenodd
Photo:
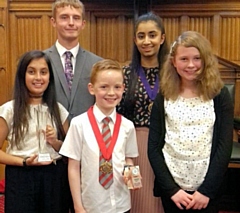
<instances>
[{"instance_id":1,"label":"short ginger-blond hair of the boy wearing a red ribbon","mask_svg":"<svg viewBox=\"0 0 240 213\"><path fill-rule=\"evenodd\" d=\"M123 70L118 62L111 59L103 59L93 65L90 76L90 83L94 84L96 82L98 73L105 70L114 70L120 72L123 76Z\"/></svg>"}]
</instances>

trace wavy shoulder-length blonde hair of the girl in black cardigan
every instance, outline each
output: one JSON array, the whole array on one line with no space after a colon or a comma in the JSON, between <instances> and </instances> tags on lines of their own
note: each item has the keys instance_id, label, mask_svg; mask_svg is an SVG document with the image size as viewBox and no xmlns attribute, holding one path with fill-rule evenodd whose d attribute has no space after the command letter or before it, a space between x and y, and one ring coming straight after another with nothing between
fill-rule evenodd
<instances>
[{"instance_id":1,"label":"wavy shoulder-length blonde hair of the girl in black cardigan","mask_svg":"<svg viewBox=\"0 0 240 213\"><path fill-rule=\"evenodd\" d=\"M195 31L183 32L170 48L170 54L161 70L160 88L167 99L176 100L180 93L181 78L173 66L178 46L195 47L200 53L202 68L196 79L199 96L203 100L213 99L223 87L218 61L213 54L210 42L200 33Z\"/></svg>"}]
</instances>

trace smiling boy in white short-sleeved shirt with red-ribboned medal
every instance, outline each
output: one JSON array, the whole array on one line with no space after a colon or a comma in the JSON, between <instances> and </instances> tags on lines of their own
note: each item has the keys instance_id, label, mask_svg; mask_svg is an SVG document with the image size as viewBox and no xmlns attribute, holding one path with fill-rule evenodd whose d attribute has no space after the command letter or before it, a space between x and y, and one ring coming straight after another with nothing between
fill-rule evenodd
<instances>
[{"instance_id":1,"label":"smiling boy in white short-sleeved shirt with red-ribboned medal","mask_svg":"<svg viewBox=\"0 0 240 213\"><path fill-rule=\"evenodd\" d=\"M69 158L75 212L130 212L130 192L122 171L124 165L133 165L138 148L133 123L115 109L124 90L119 64L109 59L97 62L88 89L96 102L73 118L60 150ZM109 124L103 124L104 118Z\"/></svg>"}]
</instances>

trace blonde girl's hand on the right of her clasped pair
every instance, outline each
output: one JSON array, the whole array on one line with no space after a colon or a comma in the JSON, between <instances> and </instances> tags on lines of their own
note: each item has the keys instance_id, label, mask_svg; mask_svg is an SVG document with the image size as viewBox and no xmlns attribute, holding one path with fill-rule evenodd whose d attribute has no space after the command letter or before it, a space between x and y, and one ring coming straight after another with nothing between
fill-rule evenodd
<instances>
[{"instance_id":1,"label":"blonde girl's hand on the right of her clasped pair","mask_svg":"<svg viewBox=\"0 0 240 213\"><path fill-rule=\"evenodd\" d=\"M209 203L209 197L201 194L200 192L196 191L193 193L193 199L188 204L186 209L205 209Z\"/></svg>"}]
</instances>

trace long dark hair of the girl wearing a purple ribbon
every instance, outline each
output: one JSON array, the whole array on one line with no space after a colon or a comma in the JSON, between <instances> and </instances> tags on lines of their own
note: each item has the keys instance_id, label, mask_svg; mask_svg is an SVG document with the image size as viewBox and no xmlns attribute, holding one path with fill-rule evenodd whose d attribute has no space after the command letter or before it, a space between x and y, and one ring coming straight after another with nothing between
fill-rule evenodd
<instances>
[{"instance_id":1,"label":"long dark hair of the girl wearing a purple ribbon","mask_svg":"<svg viewBox=\"0 0 240 213\"><path fill-rule=\"evenodd\" d=\"M139 24L142 22L147 22L147 21L153 21L156 23L156 26L159 28L162 34L165 34L165 28L162 22L162 19L154 14L153 12L149 12L146 14L143 14L138 17L138 19L135 22L134 26L134 37L136 37L136 32L138 29ZM160 45L159 52L158 52L158 64L159 64L159 70L161 70L162 65L166 59L166 56L169 52L168 44L166 41L166 38L164 42ZM124 105L128 110L133 110L133 105L134 104L134 94L136 92L136 86L137 86L137 81L138 81L138 68L141 66L141 54L134 43L133 45L133 51L132 51L132 61L130 63L130 81L129 81L129 87L127 90L127 93L125 94L124 98Z\"/></svg>"}]
</instances>

